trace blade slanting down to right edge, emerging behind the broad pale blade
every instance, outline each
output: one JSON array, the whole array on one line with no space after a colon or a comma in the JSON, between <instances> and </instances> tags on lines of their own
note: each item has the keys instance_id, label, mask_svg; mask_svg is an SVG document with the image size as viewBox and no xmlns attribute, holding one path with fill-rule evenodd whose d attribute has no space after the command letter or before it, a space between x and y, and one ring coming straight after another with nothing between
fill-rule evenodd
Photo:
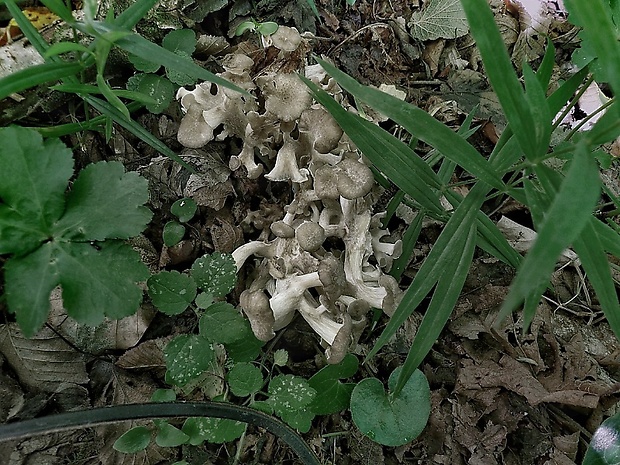
<instances>
[{"instance_id":1,"label":"blade slanting down to right edge, emerging behind the broad pale blade","mask_svg":"<svg viewBox=\"0 0 620 465\"><path fill-rule=\"evenodd\" d=\"M597 221L590 218L579 237L573 242L573 248L579 255L581 265L596 292L609 326L620 340L620 304L607 255L596 234L594 222Z\"/></svg>"}]
</instances>

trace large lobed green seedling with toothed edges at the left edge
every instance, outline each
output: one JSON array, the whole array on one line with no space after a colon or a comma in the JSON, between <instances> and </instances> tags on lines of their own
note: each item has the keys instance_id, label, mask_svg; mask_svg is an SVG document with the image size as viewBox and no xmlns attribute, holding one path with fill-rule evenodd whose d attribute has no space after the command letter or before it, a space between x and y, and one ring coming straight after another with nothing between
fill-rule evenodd
<instances>
[{"instance_id":1,"label":"large lobed green seedling with toothed edges at the left edge","mask_svg":"<svg viewBox=\"0 0 620 465\"><path fill-rule=\"evenodd\" d=\"M0 254L8 308L27 336L45 323L50 294L80 323L135 313L138 282L148 277L124 240L138 235L152 213L147 181L118 162L94 163L73 175L71 152L34 130L0 129Z\"/></svg>"}]
</instances>

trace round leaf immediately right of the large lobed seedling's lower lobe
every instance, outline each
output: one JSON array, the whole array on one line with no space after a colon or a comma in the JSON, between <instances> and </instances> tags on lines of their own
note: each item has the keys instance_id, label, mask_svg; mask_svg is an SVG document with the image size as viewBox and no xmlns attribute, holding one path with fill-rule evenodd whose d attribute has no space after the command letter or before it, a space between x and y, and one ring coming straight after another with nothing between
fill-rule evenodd
<instances>
[{"instance_id":1,"label":"round leaf immediately right of the large lobed seedling's lower lobe","mask_svg":"<svg viewBox=\"0 0 620 465\"><path fill-rule=\"evenodd\" d=\"M153 305L166 315L183 313L196 297L196 283L178 271L160 271L147 281Z\"/></svg>"}]
</instances>

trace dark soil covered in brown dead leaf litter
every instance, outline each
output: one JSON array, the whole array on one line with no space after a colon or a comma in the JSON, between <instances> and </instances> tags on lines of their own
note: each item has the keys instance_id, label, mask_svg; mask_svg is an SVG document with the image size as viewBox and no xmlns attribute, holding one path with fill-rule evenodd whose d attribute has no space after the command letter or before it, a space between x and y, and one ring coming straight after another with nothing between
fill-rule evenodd
<instances>
[{"instance_id":1,"label":"dark soil covered in brown dead leaf litter","mask_svg":"<svg viewBox=\"0 0 620 465\"><path fill-rule=\"evenodd\" d=\"M200 2L180 3L188 5L185 13L189 15ZM310 42L314 53L331 59L363 84L395 85L406 92L408 101L432 112L455 130L474 105L481 104L474 124L482 129L470 141L488 154L505 121L494 104L472 40L468 35L426 42L408 39L397 18L409 18L419 10L418 3L358 0L349 6L340 0L317 0L321 13L321 21L317 21L304 0L260 1L254 5L253 15L259 21L272 20L312 32L316 37ZM498 22L512 24L518 32L519 17L502 9L503 5L502 2L494 5ZM233 7L226 6L208 14L193 27L199 33L228 37L229 18L233 13ZM152 33L147 26L141 26L144 33ZM556 64L560 70L569 60L575 42L569 39L568 26L558 22L554 28L550 35L558 50ZM255 60L260 63L254 68L255 73L261 72L260 67L274 64L268 51L256 46L256 37L230 40L262 54L261 60ZM508 45L511 50L515 47L514 42ZM534 67L541 58L540 54L532 56L535 53L534 46L528 49ZM451 54L462 60L460 69ZM122 57L118 63L110 70L111 78L113 82L123 83L131 70ZM220 70L218 59L205 61L205 66ZM559 71L554 77L560 77ZM59 102L49 111L38 109L14 122L35 126L68 122L76 114L79 117L81 110L76 108L76 102ZM135 116L177 153L192 155L176 141L182 116L176 102L160 115L143 112ZM390 121L382 125L399 133ZM161 231L170 220L169 207L178 198L177 186L184 173L172 162L159 159L154 162L159 155L120 127L115 127L108 141L103 134L94 132L64 140L74 148L78 167L100 160L121 160L128 170L138 170L151 180L150 207L155 216L143 242L135 245L153 269L184 270L204 253L231 252L259 237L271 221L280 219L284 206L291 200L290 186L286 183L271 184L263 177L247 179L242 171L218 171L227 165L230 154L239 150L239 141L209 144L201 149L200 156L215 160L204 167L210 170L213 182L208 186L208 193L203 194L206 198L200 214L191 222L190 238L183 247L168 249L162 244ZM428 148L422 146L419 150L423 155ZM155 171L161 175L157 182ZM466 173L462 175L463 179L455 181L467 179ZM523 206L501 199L489 201L484 209L493 220L506 215L525 225L530 221ZM395 217L389 229L397 237L405 226L404 220ZM402 279L403 288L415 275L440 230L440 224L425 224ZM432 411L426 429L417 439L400 447L384 447L362 435L348 411L317 417L304 438L322 462L338 465L580 463L596 427L615 413L620 394L620 344L592 297L587 280L574 266L554 273L554 292L545 294L529 330L523 331L519 313L496 327L498 307L513 276L511 268L480 250L476 252L452 317L420 366L430 383ZM244 282L242 275L230 296L231 303L238 303ZM49 380L45 386L32 382L36 375L12 366L7 361L10 355L0 351L0 420L144 402L154 389L166 387L162 347L170 336L191 332L196 321L190 314L178 317L155 314L147 305L129 328L119 324L108 329L104 338L107 343L99 347L77 343L74 337L70 338L71 343L59 342L58 332L67 339L66 334L75 336L75 331L63 327L67 323L60 317L52 317L48 327L35 338L37 344L45 350L50 340L56 341L59 345L55 350L66 351L76 368L68 377ZM374 376L386 383L389 374L403 363L423 312L424 304L350 381ZM354 351L360 359L373 346L386 322L387 317L380 317L364 333ZM318 343L303 320L296 320L282 331L269 350L286 349L290 360L283 372L308 377L323 363ZM276 438L253 427L243 444L235 441L176 449L153 447L135 456L122 456L111 445L126 429L127 425L112 426L50 435L21 444L0 444L0 454L10 457L5 463L11 465L156 464L173 463L181 457L190 464L225 464L233 463L241 447L238 463L296 463L291 451Z\"/></svg>"}]
</instances>

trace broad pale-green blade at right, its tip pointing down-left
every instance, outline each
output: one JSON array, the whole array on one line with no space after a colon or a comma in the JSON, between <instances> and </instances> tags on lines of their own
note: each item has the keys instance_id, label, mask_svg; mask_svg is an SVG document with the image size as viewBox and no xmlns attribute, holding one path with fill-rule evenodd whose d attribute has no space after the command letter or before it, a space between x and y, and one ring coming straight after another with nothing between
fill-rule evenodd
<instances>
[{"instance_id":1,"label":"broad pale-green blade at right, its tip pointing down-left","mask_svg":"<svg viewBox=\"0 0 620 465\"><path fill-rule=\"evenodd\" d=\"M589 221L600 190L596 161L585 144L579 144L536 241L510 286L498 319L505 318L531 295L533 289L538 289L542 282L546 283L562 251L578 237ZM524 326L527 327L530 321L526 318Z\"/></svg>"}]
</instances>

